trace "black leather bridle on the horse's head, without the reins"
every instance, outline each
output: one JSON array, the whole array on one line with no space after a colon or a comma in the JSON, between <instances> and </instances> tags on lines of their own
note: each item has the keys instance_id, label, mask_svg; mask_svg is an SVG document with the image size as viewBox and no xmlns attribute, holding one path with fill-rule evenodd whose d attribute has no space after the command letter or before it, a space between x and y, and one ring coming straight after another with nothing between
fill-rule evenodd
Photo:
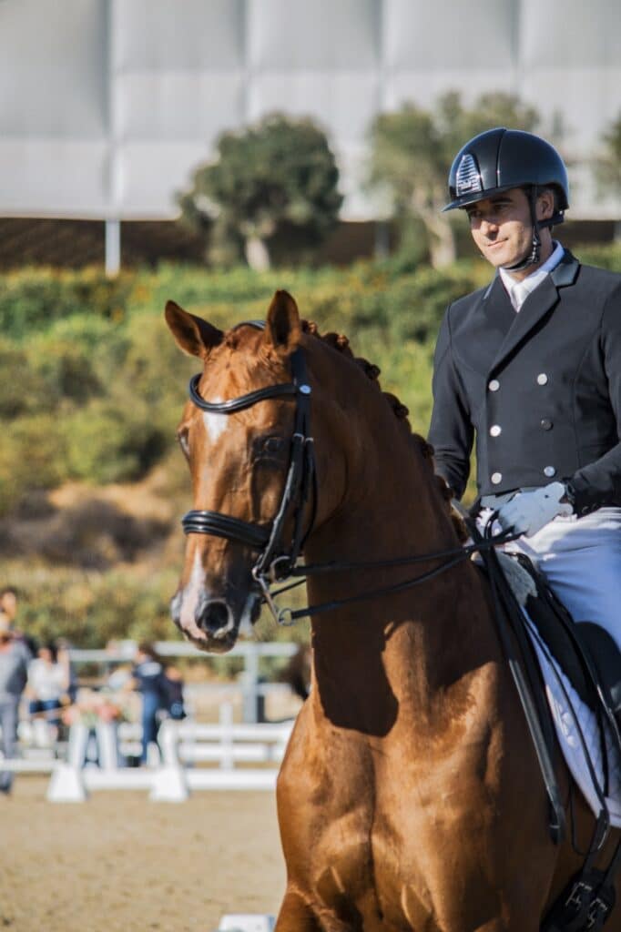
<instances>
[{"instance_id":1,"label":"black leather bridle on the horse's head, without the reins","mask_svg":"<svg viewBox=\"0 0 621 932\"><path fill-rule=\"evenodd\" d=\"M257 329L264 329L265 323L248 321ZM243 326L243 324L238 324ZM265 389L250 391L239 398L226 402L207 402L199 393L200 373L193 376L189 383L189 397L201 411L209 414L231 415L237 411L253 407L259 402L274 398L295 398L296 415L294 432L291 437L289 467L283 487L283 495L278 511L269 525L257 525L240 518L231 517L220 512L193 509L182 518L186 534L211 534L228 541L242 543L251 550L260 551L252 569L253 577L270 610L277 615L269 593L269 583L291 575L304 543L311 533L316 510L315 457L311 437L311 386L306 375L306 363L302 349L291 354L292 382L269 385ZM311 521L304 533L304 513L307 502L312 497ZM294 528L290 541L286 545L284 523L293 514Z\"/></svg>"}]
</instances>

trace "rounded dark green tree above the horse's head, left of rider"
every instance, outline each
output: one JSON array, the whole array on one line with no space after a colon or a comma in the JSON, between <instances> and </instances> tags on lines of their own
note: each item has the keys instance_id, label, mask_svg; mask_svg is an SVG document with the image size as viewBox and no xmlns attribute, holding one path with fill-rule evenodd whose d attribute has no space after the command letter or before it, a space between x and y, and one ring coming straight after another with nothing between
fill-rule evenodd
<instances>
[{"instance_id":1,"label":"rounded dark green tree above the horse's head, left of rider","mask_svg":"<svg viewBox=\"0 0 621 932\"><path fill-rule=\"evenodd\" d=\"M194 172L179 198L182 217L203 235L212 260L268 268L280 244L287 257L317 246L335 226L342 197L323 130L310 119L265 117L224 132L213 163Z\"/></svg>"}]
</instances>

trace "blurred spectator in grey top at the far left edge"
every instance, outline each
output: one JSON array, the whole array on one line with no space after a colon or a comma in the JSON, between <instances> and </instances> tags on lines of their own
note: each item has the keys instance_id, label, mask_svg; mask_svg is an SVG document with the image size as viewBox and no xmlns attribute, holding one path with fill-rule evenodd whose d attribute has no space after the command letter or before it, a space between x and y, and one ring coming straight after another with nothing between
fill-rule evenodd
<instances>
[{"instance_id":1,"label":"blurred spectator in grey top at the far left edge","mask_svg":"<svg viewBox=\"0 0 621 932\"><path fill-rule=\"evenodd\" d=\"M30 659L26 645L14 636L10 619L0 614L0 726L2 751L7 760L15 756L18 710ZM7 795L12 784L12 772L0 772L0 793Z\"/></svg>"}]
</instances>

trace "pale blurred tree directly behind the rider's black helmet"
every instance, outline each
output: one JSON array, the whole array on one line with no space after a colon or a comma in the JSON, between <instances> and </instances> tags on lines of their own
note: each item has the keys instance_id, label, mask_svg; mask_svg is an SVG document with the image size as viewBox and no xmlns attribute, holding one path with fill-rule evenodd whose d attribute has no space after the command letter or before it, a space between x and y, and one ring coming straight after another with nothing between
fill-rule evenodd
<instances>
[{"instance_id":1,"label":"pale blurred tree directly behind the rider's black helmet","mask_svg":"<svg viewBox=\"0 0 621 932\"><path fill-rule=\"evenodd\" d=\"M449 91L434 113L405 103L371 126L369 182L388 191L397 220L421 219L432 265L444 267L455 259L453 228L442 213L453 158L479 132L495 126L533 130L538 122L536 110L511 94L484 94L467 109L460 94Z\"/></svg>"}]
</instances>

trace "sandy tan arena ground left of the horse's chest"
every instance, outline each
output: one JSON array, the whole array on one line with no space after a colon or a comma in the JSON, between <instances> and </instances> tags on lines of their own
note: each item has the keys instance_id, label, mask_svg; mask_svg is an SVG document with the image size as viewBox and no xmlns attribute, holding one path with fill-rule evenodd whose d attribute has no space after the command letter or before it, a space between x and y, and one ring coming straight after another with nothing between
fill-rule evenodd
<instances>
[{"instance_id":1,"label":"sandy tan arena ground left of the horse's chest","mask_svg":"<svg viewBox=\"0 0 621 932\"><path fill-rule=\"evenodd\" d=\"M226 912L278 911L284 865L269 792L96 792L51 803L47 779L0 798L0 929L212 932Z\"/></svg>"}]
</instances>

